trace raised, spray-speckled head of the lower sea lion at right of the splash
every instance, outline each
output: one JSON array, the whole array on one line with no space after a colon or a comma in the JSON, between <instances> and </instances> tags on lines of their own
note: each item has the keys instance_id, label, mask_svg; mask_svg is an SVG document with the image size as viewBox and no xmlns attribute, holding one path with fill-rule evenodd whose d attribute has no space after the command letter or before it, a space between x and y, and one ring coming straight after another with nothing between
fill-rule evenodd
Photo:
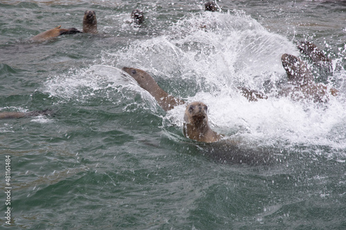
<instances>
[{"instance_id":1,"label":"raised, spray-speckled head of the lower sea lion at right of the splash","mask_svg":"<svg viewBox=\"0 0 346 230\"><path fill-rule=\"evenodd\" d=\"M281 57L282 66L286 70L289 81L293 84L304 85L313 79L312 73L298 57L284 54Z\"/></svg>"}]
</instances>

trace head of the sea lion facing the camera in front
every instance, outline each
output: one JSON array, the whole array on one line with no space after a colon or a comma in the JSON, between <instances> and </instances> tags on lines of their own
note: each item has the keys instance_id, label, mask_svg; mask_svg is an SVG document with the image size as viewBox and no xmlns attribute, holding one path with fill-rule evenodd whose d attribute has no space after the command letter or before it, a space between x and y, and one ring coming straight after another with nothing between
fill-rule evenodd
<instances>
[{"instance_id":1,"label":"head of the sea lion facing the camera in front","mask_svg":"<svg viewBox=\"0 0 346 230\"><path fill-rule=\"evenodd\" d=\"M203 102L192 102L185 110L184 121L187 124L208 124L208 106Z\"/></svg>"}]
</instances>

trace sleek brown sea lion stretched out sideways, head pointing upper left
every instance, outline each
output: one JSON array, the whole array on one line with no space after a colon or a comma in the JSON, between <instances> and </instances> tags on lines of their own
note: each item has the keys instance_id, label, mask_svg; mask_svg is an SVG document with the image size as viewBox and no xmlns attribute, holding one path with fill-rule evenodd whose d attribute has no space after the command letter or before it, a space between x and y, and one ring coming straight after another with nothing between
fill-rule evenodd
<instances>
[{"instance_id":1,"label":"sleek brown sea lion stretched out sideways, head pointing upper left","mask_svg":"<svg viewBox=\"0 0 346 230\"><path fill-rule=\"evenodd\" d=\"M154 78L146 73L144 70L138 68L123 67L126 73L133 77L140 87L147 90L153 97L155 97L158 104L165 110L169 111L174 106L179 104L184 104L183 100L177 99L172 95L168 95L158 84L155 82Z\"/></svg>"}]
</instances>

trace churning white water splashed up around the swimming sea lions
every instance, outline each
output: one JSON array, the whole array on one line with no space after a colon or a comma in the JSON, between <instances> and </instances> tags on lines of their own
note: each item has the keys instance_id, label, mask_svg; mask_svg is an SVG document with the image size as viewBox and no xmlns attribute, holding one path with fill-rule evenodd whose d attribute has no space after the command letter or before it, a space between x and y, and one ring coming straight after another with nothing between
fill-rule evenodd
<instances>
[{"instance_id":1,"label":"churning white water splashed up around the swimming sea lions","mask_svg":"<svg viewBox=\"0 0 346 230\"><path fill-rule=\"evenodd\" d=\"M340 92L327 104L275 97L275 84L286 79L281 64L284 53L299 55L293 41L269 32L243 12L203 12L181 19L165 35L106 50L100 63L51 77L45 88L63 99L101 94L114 103L130 103L131 96L140 93L143 101L138 103L158 113L154 98L120 70L122 66L141 68L175 97L207 104L212 128L228 137L264 146L346 149L345 71L338 68L330 77L334 84L329 86ZM268 99L248 102L239 86L265 91ZM164 126L182 126L184 111L184 106L178 106L168 112Z\"/></svg>"}]
</instances>

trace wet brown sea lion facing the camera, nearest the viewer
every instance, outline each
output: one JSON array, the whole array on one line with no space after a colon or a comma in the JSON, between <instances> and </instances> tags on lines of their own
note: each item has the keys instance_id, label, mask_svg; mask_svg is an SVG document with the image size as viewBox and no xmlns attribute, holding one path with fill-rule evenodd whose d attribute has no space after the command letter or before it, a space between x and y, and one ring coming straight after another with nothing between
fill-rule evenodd
<instances>
[{"instance_id":1,"label":"wet brown sea lion facing the camera, nearest the viewer","mask_svg":"<svg viewBox=\"0 0 346 230\"><path fill-rule=\"evenodd\" d=\"M208 106L203 102L188 104L184 115L183 133L197 142L217 142L221 135L212 131L208 124Z\"/></svg>"}]
</instances>

